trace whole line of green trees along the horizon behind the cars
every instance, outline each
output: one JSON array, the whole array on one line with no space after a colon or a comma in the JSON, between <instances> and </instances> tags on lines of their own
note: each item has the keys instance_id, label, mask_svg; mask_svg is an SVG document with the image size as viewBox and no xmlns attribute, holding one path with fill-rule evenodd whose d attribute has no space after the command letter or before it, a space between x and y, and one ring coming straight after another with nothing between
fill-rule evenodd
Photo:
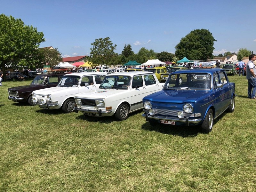
<instances>
[{"instance_id":1,"label":"whole line of green trees along the horizon behind the cars","mask_svg":"<svg viewBox=\"0 0 256 192\"><path fill-rule=\"evenodd\" d=\"M43 68L43 65L57 65L62 62L62 54L58 48L39 48L44 42L44 33L38 32L35 27L27 26L21 19L12 16L0 15L0 68L5 74L6 68ZM136 60L138 63L145 63L149 59L158 59L162 62L176 62L183 57L189 60L213 59L214 37L208 29L196 29L191 31L175 46L175 54L142 47L138 53L132 51L131 44L125 44L121 54L117 54L116 44L113 44L109 37L95 39L91 44L90 57L88 60L95 65L118 65L127 63L129 60ZM242 48L237 53L238 60L249 56L252 52ZM225 55L232 54L225 52ZM221 54L222 55L222 54ZM220 56L220 55L219 55Z\"/></svg>"}]
</instances>

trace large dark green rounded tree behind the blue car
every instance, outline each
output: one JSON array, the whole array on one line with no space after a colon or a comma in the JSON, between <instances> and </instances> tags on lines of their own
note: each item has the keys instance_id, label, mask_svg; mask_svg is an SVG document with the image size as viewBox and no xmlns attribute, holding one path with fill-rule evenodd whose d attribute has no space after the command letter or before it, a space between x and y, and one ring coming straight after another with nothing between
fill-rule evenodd
<instances>
[{"instance_id":1,"label":"large dark green rounded tree behind the blue car","mask_svg":"<svg viewBox=\"0 0 256 192\"><path fill-rule=\"evenodd\" d=\"M207 29L196 29L181 38L175 48L175 55L179 58L187 57L189 60L213 59L213 44L216 41Z\"/></svg>"}]
</instances>

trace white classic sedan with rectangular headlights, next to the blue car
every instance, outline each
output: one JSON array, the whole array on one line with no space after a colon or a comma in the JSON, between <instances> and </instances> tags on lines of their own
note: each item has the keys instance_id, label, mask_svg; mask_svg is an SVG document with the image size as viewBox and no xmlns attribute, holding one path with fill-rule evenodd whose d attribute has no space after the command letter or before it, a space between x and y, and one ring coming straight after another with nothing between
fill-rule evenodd
<instances>
[{"instance_id":1,"label":"white classic sedan with rectangular headlights, next to the blue car","mask_svg":"<svg viewBox=\"0 0 256 192\"><path fill-rule=\"evenodd\" d=\"M108 74L99 89L75 95L75 112L86 116L115 116L118 121L143 108L142 98L163 89L152 72Z\"/></svg>"}]
</instances>

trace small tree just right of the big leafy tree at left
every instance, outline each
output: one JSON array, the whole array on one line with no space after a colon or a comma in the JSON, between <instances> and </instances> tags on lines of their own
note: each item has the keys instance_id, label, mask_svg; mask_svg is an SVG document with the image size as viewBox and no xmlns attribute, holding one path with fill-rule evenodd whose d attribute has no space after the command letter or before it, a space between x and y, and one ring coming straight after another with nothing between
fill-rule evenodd
<instances>
[{"instance_id":1,"label":"small tree just right of the big leafy tree at left","mask_svg":"<svg viewBox=\"0 0 256 192\"><path fill-rule=\"evenodd\" d=\"M40 48L40 54L42 64L47 63L48 65L57 65L59 62L62 62L62 54L58 49L49 49L47 47Z\"/></svg>"}]
</instances>

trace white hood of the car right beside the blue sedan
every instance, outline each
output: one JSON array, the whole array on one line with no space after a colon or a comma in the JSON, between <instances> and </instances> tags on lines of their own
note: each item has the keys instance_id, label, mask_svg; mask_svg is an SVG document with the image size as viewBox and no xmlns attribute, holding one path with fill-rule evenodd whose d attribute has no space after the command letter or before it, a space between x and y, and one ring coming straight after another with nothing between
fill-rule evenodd
<instances>
[{"instance_id":1,"label":"white hood of the car right beside the blue sedan","mask_svg":"<svg viewBox=\"0 0 256 192\"><path fill-rule=\"evenodd\" d=\"M116 89L98 89L98 90L92 90L90 92L85 93L78 93L75 95L77 98L93 98L93 99L106 99L108 96L112 96L115 94L115 97L117 95L126 94L127 91L130 90L116 90Z\"/></svg>"}]
</instances>

